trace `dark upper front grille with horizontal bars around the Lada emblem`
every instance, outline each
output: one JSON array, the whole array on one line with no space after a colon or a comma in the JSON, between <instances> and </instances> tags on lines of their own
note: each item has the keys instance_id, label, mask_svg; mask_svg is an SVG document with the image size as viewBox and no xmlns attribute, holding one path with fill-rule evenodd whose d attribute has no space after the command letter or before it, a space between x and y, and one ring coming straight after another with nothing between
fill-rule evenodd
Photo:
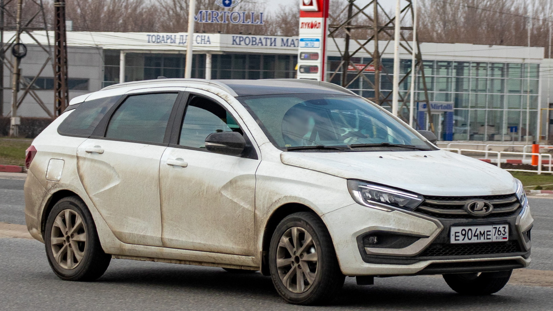
<instances>
[{"instance_id":1,"label":"dark upper front grille with horizontal bars around the Lada emblem","mask_svg":"<svg viewBox=\"0 0 553 311\"><path fill-rule=\"evenodd\" d=\"M425 201L416 209L422 214L441 219L482 219L515 214L520 208L515 194L483 196L425 196ZM469 200L486 200L493 205L493 212L486 216L468 214L463 208Z\"/></svg>"}]
</instances>

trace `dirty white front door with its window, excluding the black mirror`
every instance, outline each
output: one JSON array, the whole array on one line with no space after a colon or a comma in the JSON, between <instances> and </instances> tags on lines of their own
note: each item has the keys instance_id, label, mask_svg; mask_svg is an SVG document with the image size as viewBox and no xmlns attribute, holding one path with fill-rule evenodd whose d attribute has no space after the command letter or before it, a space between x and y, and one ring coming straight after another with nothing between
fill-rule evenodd
<instances>
[{"instance_id":1,"label":"dirty white front door with its window, excluding the black mirror","mask_svg":"<svg viewBox=\"0 0 553 311\"><path fill-rule=\"evenodd\" d=\"M218 101L190 95L178 140L161 157L163 245L253 256L259 160L236 114ZM249 142L241 156L206 151L209 134L230 131Z\"/></svg>"}]
</instances>

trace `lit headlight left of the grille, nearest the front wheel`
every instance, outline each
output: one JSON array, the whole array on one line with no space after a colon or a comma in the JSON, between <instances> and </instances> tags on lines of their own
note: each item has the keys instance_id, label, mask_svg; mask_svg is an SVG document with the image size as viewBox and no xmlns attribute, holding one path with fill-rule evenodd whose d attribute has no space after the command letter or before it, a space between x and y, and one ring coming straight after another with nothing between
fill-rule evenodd
<instances>
[{"instance_id":1,"label":"lit headlight left of the grille, nearest the front wheel","mask_svg":"<svg viewBox=\"0 0 553 311\"><path fill-rule=\"evenodd\" d=\"M349 179L347 186L353 200L357 203L385 211L392 211L388 207L412 211L424 201L421 195L373 185L361 180Z\"/></svg>"}]
</instances>

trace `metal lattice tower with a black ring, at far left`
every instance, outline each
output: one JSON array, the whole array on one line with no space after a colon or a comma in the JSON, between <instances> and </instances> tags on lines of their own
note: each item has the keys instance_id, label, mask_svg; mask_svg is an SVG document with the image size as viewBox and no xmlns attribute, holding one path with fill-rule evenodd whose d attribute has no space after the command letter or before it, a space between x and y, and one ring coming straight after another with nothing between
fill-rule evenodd
<instances>
[{"instance_id":1,"label":"metal lattice tower with a black ring, at far left","mask_svg":"<svg viewBox=\"0 0 553 311\"><path fill-rule=\"evenodd\" d=\"M47 15L44 10L43 0L0 0L0 61L2 63L0 75L3 77L4 69L8 69L12 74L12 105L9 113L4 115L12 117L12 125L10 134L18 135L18 113L17 110L21 106L27 95L33 97L38 105L46 112L49 117L54 117L53 113L48 110L45 103L36 94L33 85L36 79L41 75L46 66L51 60L51 47L48 39L48 44L44 45L39 42L33 35L35 30L44 30L46 37L48 36ZM13 32L6 40L5 31ZM22 77L20 64L21 60L27 54L27 47L22 43L21 36L27 35L41 50L46 53L47 57L40 70L34 77ZM6 41L4 43L4 40ZM4 67L5 66L5 67ZM3 82L0 80L0 82ZM1 85L2 93L5 89ZM3 94L0 94L0 105L3 106Z\"/></svg>"}]
</instances>

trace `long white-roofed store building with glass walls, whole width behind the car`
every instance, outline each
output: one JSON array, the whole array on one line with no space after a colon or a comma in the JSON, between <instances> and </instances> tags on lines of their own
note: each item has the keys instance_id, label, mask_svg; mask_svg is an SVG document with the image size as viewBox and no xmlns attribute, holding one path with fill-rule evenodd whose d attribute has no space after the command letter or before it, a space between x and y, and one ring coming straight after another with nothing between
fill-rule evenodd
<instances>
[{"instance_id":1,"label":"long white-roofed store building with glass walls, whole width behind the car","mask_svg":"<svg viewBox=\"0 0 553 311\"><path fill-rule=\"evenodd\" d=\"M70 91L71 97L119 83L122 79L138 81L158 76L184 76L185 33L68 32L67 36L70 50L79 48L75 51L87 51L88 54L83 55L101 56L72 58L70 52L70 77L79 81L79 87ZM452 111L433 111L433 125L440 139L525 141L527 132L528 140L537 138L539 108L548 108L547 98L553 96L546 95L550 89L546 82L549 81L551 63L543 58L544 48L439 43L421 43L420 46L429 100L452 103ZM273 79L294 78L296 74L296 37L195 34L194 48L193 77ZM366 48L372 50L372 46ZM338 48L328 46L328 55L327 80L340 84L343 72ZM392 72L392 47L389 46L382 55L382 71ZM356 56L359 57L352 59L356 65L371 62L368 54ZM401 72L408 72L411 55L400 54L400 58ZM90 71L84 70L85 63L90 66ZM544 66L545 70L542 69ZM97 74L97 68L101 68L101 76L90 76ZM28 70L23 71L25 75L32 75ZM351 69L346 74L354 76L356 71ZM49 81L50 75L45 74L43 80ZM97 80L101 83L96 84ZM408 78L400 86L402 96L410 89L410 82ZM371 83L374 84L374 72L367 71L348 88L371 98L374 97ZM420 74L415 85L415 98L424 100ZM391 92L391 80L381 77L380 89L384 96ZM406 106L400 109L405 117L408 116ZM24 111L34 110L29 106ZM549 116L546 115L542 115L541 137L549 136ZM419 128L427 128L429 118L425 113L418 113L416 123Z\"/></svg>"}]
</instances>

